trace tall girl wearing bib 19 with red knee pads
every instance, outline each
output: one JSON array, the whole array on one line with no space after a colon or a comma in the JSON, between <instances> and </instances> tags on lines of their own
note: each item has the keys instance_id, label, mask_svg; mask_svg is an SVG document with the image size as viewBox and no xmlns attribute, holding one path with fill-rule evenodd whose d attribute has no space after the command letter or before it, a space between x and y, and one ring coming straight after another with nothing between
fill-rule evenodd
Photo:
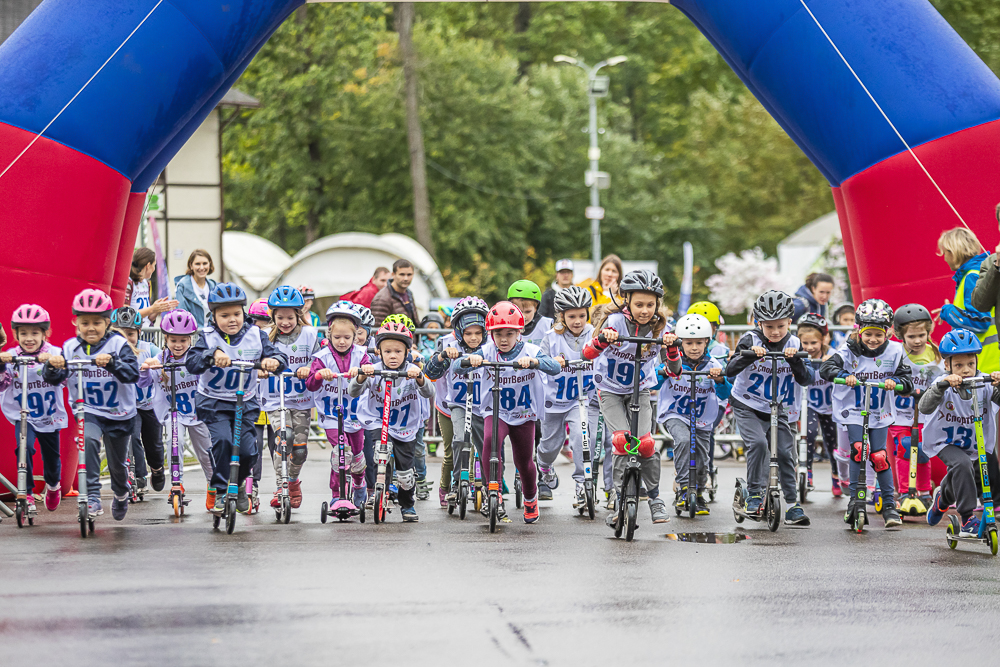
<instances>
[{"instance_id":1,"label":"tall girl wearing bib 19 with red knee pads","mask_svg":"<svg viewBox=\"0 0 1000 667\"><path fill-rule=\"evenodd\" d=\"M642 482L649 497L649 512L653 523L665 523L670 517L667 515L666 503L660 498L660 453L650 432L653 407L649 401L649 392L656 383L660 345L667 346L667 367L670 372L680 370L681 355L675 345L677 337L666 330L668 313L661 304L663 282L660 277L644 269L630 271L625 274L618 291L624 302L620 306L605 306L602 318L594 326L599 333L584 346L583 356L597 360L594 381L598 389L601 415L604 417L604 428L613 434L611 441L614 447L612 465L615 497L621 495L626 448L631 447L629 404L632 402L633 381L639 383L639 424L636 438L639 440ZM621 335L649 336L654 341L638 350L638 378L633 377L636 344L616 344ZM617 519L618 513L612 511L605 518L605 523L615 529Z\"/></svg>"}]
</instances>

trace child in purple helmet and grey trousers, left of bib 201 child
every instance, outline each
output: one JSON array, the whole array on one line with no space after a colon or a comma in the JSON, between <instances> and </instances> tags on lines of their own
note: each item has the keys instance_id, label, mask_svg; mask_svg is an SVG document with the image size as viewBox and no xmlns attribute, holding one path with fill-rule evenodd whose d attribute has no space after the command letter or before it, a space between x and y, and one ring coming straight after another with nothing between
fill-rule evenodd
<instances>
[{"instance_id":1,"label":"child in purple helmet and grey trousers, left of bib 201 child","mask_svg":"<svg viewBox=\"0 0 1000 667\"><path fill-rule=\"evenodd\" d=\"M164 348L160 354L152 359L143 362L140 371L151 373L153 380L158 381L163 386L163 393L167 400L167 407L170 407L170 378L169 371L160 371L163 364L183 364L187 360L188 350L191 349L191 337L198 331L198 322L194 316L186 310L172 310L160 319L160 331L164 336ZM188 438L191 440L191 448L201 465L201 471L205 475L205 509L209 512L215 506L215 488L212 486L212 472L214 464L212 462L212 436L208 432L205 422L198 419L195 407L197 406L198 375L192 375L187 368L178 368L173 372L176 388L174 392L177 397L177 422L179 426L187 429ZM169 417L169 415L168 415Z\"/></svg>"}]
</instances>

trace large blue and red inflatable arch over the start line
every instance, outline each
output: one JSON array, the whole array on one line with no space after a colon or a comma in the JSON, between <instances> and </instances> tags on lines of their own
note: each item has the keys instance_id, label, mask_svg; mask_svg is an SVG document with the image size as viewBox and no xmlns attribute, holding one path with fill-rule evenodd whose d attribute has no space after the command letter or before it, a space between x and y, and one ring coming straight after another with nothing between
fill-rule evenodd
<instances>
[{"instance_id":1,"label":"large blue and red inflatable arch over the start line","mask_svg":"<svg viewBox=\"0 0 1000 667\"><path fill-rule=\"evenodd\" d=\"M37 301L62 341L73 294L120 302L147 188L303 3L45 0L0 46L0 319ZM829 180L856 294L941 303L956 212L993 247L1000 81L926 0L670 4Z\"/></svg>"}]
</instances>

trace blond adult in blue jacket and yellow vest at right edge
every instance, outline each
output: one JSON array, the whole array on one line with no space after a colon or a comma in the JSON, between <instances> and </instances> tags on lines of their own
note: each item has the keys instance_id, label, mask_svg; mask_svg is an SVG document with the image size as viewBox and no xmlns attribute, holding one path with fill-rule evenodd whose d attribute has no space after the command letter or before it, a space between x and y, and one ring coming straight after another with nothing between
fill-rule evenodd
<instances>
[{"instance_id":1,"label":"blond adult in blue jacket and yellow vest at right edge","mask_svg":"<svg viewBox=\"0 0 1000 667\"><path fill-rule=\"evenodd\" d=\"M938 322L943 320L953 329L968 329L976 334L976 338L983 344L983 351L979 354L979 370L992 373L1000 370L1000 349L997 347L997 328L993 323L992 312L996 304L997 283L995 280L987 280L986 285L978 288L979 297L973 296L983 267L987 268L988 276L989 267L993 265L993 262L987 261L989 253L979 252L980 249L975 234L965 227L949 229L941 234L938 239L938 255L955 272L952 276L955 280L955 301L948 303L945 299L944 305L931 313ZM993 270L995 273L996 268ZM977 301L984 304L983 310L976 307Z\"/></svg>"}]
</instances>

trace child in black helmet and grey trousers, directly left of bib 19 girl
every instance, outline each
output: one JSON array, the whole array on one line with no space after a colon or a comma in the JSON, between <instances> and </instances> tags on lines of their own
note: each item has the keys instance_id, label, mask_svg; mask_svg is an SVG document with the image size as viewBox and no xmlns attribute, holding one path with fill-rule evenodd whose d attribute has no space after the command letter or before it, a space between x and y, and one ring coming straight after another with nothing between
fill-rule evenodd
<instances>
[{"instance_id":1,"label":"child in black helmet and grey trousers, directly left of bib 19 girl","mask_svg":"<svg viewBox=\"0 0 1000 667\"><path fill-rule=\"evenodd\" d=\"M568 426L574 463L573 481L576 482L573 509L586 507L587 504L583 485L583 433L580 430L578 401L582 392L589 404L597 389L594 386L593 370L583 372L585 386L580 387L577 386L576 370L567 368L566 362L581 359L583 346L593 337L594 327L587 321L590 319L590 306L593 302L590 292L576 285L570 285L556 292L553 299L556 323L545 334L541 343L542 353L553 357L563 370L555 380L545 383L545 416L542 418L542 440L538 445L538 499L552 500L552 489L559 485L559 477L553 465L566 440ZM590 419L588 414L587 423L587 432L591 436L591 449L593 449L593 434L597 429L596 406L593 412L593 419Z\"/></svg>"}]
</instances>

